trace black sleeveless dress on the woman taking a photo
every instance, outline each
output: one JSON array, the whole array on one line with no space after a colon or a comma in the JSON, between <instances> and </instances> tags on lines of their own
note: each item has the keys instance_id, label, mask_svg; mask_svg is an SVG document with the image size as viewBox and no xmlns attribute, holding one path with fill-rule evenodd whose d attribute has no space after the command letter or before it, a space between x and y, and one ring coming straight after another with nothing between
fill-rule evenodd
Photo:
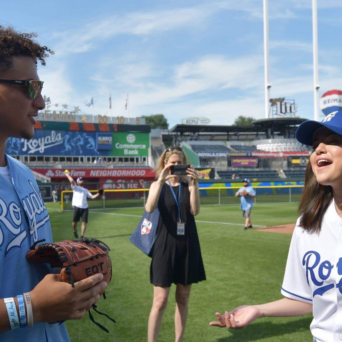
<instances>
[{"instance_id":1,"label":"black sleeveless dress on the woman taking a photo","mask_svg":"<svg viewBox=\"0 0 342 342\"><path fill-rule=\"evenodd\" d=\"M194 216L190 213L190 192L181 185L181 220L185 235L177 235L178 207L169 184L165 184L160 203L160 219L150 265L150 282L170 287L172 283L189 285L206 280ZM178 200L179 185L173 187Z\"/></svg>"}]
</instances>

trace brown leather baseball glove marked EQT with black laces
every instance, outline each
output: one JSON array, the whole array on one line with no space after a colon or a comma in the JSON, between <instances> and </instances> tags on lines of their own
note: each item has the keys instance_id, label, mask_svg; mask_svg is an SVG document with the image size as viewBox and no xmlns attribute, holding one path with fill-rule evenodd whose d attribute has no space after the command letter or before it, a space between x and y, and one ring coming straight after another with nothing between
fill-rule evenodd
<instances>
[{"instance_id":1,"label":"brown leather baseball glove marked EQT with black laces","mask_svg":"<svg viewBox=\"0 0 342 342\"><path fill-rule=\"evenodd\" d=\"M36 244L26 254L29 261L40 261L52 267L61 267L61 280L74 287L74 282L95 273L102 273L109 284L112 273L109 247L102 241L83 237L81 240L64 240L52 244ZM102 294L102 293L100 293Z\"/></svg>"}]
</instances>

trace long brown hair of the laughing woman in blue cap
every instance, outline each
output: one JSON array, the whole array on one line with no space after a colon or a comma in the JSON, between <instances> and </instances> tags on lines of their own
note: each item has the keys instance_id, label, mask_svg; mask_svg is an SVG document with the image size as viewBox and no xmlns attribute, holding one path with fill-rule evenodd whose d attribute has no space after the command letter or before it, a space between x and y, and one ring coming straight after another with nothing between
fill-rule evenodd
<instances>
[{"instance_id":1,"label":"long brown hair of the laughing woman in blue cap","mask_svg":"<svg viewBox=\"0 0 342 342\"><path fill-rule=\"evenodd\" d=\"M298 212L301 215L300 226L307 232L318 234L332 198L332 187L317 182L309 160L305 170L303 194L298 207Z\"/></svg>"}]
</instances>

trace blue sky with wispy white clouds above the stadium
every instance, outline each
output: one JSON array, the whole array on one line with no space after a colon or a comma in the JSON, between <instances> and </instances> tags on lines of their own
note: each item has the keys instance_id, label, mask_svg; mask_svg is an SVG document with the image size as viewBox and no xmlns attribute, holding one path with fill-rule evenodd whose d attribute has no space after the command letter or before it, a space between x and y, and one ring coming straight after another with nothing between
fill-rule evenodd
<instances>
[{"instance_id":1,"label":"blue sky with wispy white clouds above the stadium","mask_svg":"<svg viewBox=\"0 0 342 342\"><path fill-rule=\"evenodd\" d=\"M52 104L95 116L162 113L169 128L187 117L214 125L265 118L262 0L28 4L7 2L0 24L37 32L54 50L38 70ZM314 119L311 6L268 1L270 95L295 100L296 115L307 119ZM317 0L317 7L321 97L342 90L342 1ZM85 106L91 97L94 106Z\"/></svg>"}]
</instances>

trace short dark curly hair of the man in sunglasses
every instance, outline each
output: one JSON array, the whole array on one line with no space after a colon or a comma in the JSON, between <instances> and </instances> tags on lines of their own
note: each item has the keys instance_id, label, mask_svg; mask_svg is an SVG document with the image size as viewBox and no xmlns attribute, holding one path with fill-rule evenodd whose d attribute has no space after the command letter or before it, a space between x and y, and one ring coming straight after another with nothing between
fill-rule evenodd
<instances>
[{"instance_id":1,"label":"short dark curly hair of the man in sunglasses","mask_svg":"<svg viewBox=\"0 0 342 342\"><path fill-rule=\"evenodd\" d=\"M0 73L12 67L13 57L31 57L36 65L38 60L45 65L45 58L54 52L33 40L36 33L18 33L12 27L0 25Z\"/></svg>"}]
</instances>

